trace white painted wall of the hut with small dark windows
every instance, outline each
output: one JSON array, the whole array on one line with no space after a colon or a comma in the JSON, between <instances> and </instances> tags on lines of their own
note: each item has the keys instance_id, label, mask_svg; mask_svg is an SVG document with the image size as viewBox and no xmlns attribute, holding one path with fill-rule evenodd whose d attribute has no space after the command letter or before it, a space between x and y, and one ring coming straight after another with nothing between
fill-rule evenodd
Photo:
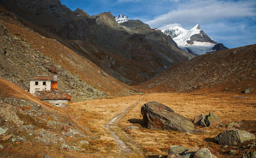
<instances>
[{"instance_id":1,"label":"white painted wall of the hut with small dark windows","mask_svg":"<svg viewBox=\"0 0 256 158\"><path fill-rule=\"evenodd\" d=\"M35 85L35 82L38 82L38 85ZM43 85L43 82L46 82L46 85ZM29 92L35 94L35 91L50 91L51 90L51 81L30 81L29 82Z\"/></svg>"}]
</instances>

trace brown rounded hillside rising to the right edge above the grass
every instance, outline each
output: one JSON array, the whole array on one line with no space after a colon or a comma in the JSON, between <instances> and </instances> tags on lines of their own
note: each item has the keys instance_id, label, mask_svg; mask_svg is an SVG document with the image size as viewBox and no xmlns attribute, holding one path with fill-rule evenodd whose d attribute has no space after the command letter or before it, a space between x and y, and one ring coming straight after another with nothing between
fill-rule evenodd
<instances>
[{"instance_id":1,"label":"brown rounded hillside rising to the right edge above the grass","mask_svg":"<svg viewBox=\"0 0 256 158\"><path fill-rule=\"evenodd\" d=\"M169 67L140 87L164 91L192 91L219 85L242 92L256 88L256 44L211 52ZM217 86L218 87L218 86Z\"/></svg>"}]
</instances>

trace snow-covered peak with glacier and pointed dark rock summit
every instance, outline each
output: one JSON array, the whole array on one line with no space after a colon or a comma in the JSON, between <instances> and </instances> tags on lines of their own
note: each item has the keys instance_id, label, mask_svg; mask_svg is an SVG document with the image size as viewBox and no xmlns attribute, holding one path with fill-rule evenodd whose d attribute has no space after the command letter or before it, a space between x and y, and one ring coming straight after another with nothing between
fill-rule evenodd
<instances>
[{"instance_id":1,"label":"snow-covered peak with glacier and pointed dark rock summit","mask_svg":"<svg viewBox=\"0 0 256 158\"><path fill-rule=\"evenodd\" d=\"M185 30L181 27L172 27L162 30L162 32L172 37L182 50L193 52L196 55L227 49L223 44L221 47L218 45L215 46L218 43L208 37L200 29L199 24L195 25L195 27L190 30Z\"/></svg>"}]
</instances>

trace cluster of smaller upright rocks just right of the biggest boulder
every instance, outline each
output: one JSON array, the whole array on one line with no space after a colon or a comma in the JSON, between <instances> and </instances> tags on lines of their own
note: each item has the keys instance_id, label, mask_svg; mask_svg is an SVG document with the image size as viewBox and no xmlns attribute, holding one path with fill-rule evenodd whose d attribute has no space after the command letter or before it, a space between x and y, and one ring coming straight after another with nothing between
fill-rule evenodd
<instances>
[{"instance_id":1,"label":"cluster of smaller upright rocks just right of the biggest boulder","mask_svg":"<svg viewBox=\"0 0 256 158\"><path fill-rule=\"evenodd\" d=\"M219 118L219 116L210 112L209 115L200 114L198 116L195 116L194 123L203 127L209 127L220 124L221 119Z\"/></svg>"}]
</instances>

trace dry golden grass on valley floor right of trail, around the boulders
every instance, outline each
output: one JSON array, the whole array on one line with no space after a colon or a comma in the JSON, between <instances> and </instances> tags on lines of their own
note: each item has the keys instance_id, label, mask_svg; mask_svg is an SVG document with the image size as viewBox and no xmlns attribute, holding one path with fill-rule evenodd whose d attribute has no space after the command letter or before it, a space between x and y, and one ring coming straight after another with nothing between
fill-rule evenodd
<instances>
[{"instance_id":1,"label":"dry golden grass on valley floor right of trail, around the boulders","mask_svg":"<svg viewBox=\"0 0 256 158\"><path fill-rule=\"evenodd\" d=\"M159 129L147 129L143 127L143 117L140 114L140 108L143 103L156 100L173 109L176 113L185 116L191 120L201 113L208 114L213 112L219 115L224 123L232 121L256 121L254 112L256 109L255 95L249 95L249 98L230 98L236 94L226 93L152 93L146 94L137 106L119 121L119 126L124 129L127 126L136 125L140 127L137 130L124 130L127 137L139 144L144 155L166 155L168 148L172 145L181 145L187 147L216 147L212 142L223 128L206 127L210 130L209 134L183 134L178 131L163 131ZM198 127L197 127L198 128ZM255 125L254 125L255 128ZM252 131L255 129L251 129ZM124 132L123 132L124 133ZM124 135L124 134L123 134ZM129 143L127 143L129 144ZM215 150L214 150L215 151Z\"/></svg>"}]
</instances>

